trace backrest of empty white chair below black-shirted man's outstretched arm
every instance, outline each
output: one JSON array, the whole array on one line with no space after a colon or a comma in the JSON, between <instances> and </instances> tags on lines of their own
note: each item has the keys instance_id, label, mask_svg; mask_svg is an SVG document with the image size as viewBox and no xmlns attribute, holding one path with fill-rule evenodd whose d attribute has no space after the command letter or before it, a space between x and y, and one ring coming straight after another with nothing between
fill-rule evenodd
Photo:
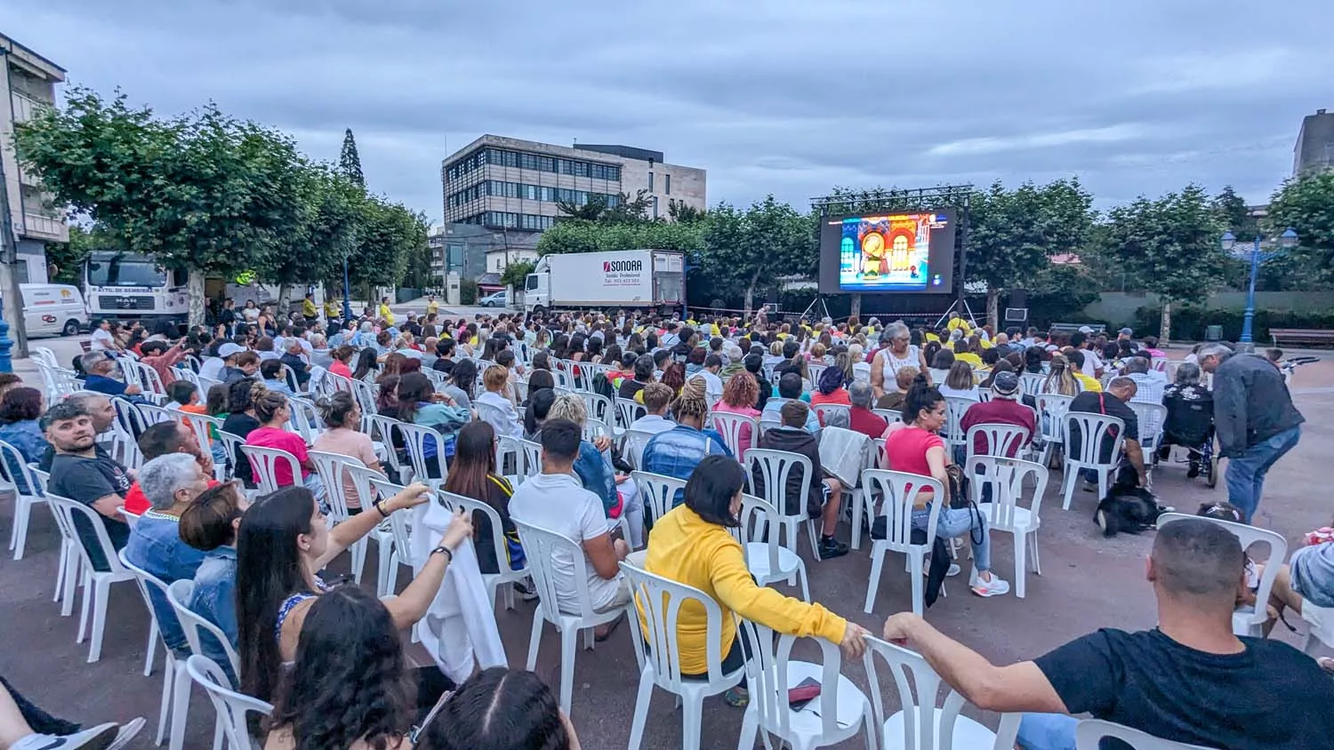
<instances>
[{"instance_id":1,"label":"backrest of empty white chair below black-shirted man's outstretched arm","mask_svg":"<svg viewBox=\"0 0 1334 750\"><path fill-rule=\"evenodd\" d=\"M944 702L938 705L936 698L943 681L922 655L867 635L862 663L866 666L866 675L871 683L875 726L886 726L888 718L880 693L879 673L875 669L876 657L890 669L899 694L899 703L903 707L903 737L882 737L880 742L887 747L911 750L950 750L954 747L954 723L959 718L959 709L963 707L963 695L950 689ZM940 737L935 735L938 731Z\"/></svg>"}]
</instances>

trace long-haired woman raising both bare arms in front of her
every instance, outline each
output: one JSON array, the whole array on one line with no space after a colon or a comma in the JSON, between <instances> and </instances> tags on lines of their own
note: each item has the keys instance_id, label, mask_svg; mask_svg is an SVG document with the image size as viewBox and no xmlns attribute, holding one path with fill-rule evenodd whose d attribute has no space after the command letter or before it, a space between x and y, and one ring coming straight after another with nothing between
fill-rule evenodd
<instances>
[{"instance_id":1,"label":"long-haired woman raising both bare arms in front of her","mask_svg":"<svg viewBox=\"0 0 1334 750\"><path fill-rule=\"evenodd\" d=\"M428 488L418 482L379 500L374 510L354 516L334 529L328 528L311 492L299 486L263 497L245 512L236 536L236 623L243 693L273 702L287 674L284 665L296 659L311 605L331 590L316 571L392 513L428 500ZM426 615L454 550L470 534L471 520L456 513L450 530L412 582L384 602L394 629L411 627Z\"/></svg>"}]
</instances>

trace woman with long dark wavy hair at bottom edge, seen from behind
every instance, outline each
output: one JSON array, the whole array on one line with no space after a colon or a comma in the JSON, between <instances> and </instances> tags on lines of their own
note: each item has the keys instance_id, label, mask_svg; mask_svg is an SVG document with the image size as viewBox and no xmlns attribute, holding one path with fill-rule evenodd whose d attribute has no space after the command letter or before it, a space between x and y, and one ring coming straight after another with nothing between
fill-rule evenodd
<instances>
[{"instance_id":1,"label":"woman with long dark wavy hair at bottom edge, seen from behind","mask_svg":"<svg viewBox=\"0 0 1334 750\"><path fill-rule=\"evenodd\" d=\"M358 586L335 587L309 606L264 750L407 750L424 697L407 671L390 610Z\"/></svg>"}]
</instances>

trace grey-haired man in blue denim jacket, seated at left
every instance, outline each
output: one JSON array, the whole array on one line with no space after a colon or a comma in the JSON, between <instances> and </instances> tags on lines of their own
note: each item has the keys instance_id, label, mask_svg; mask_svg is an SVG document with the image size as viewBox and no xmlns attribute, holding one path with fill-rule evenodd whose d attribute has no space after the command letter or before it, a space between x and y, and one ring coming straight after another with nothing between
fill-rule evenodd
<instances>
[{"instance_id":1,"label":"grey-haired man in blue denim jacket, seated at left","mask_svg":"<svg viewBox=\"0 0 1334 750\"><path fill-rule=\"evenodd\" d=\"M204 553L180 540L180 514L208 489L208 477L187 453L159 456L139 469L139 485L152 508L135 524L125 545L125 560L151 573L163 583L192 579ZM188 654L185 631L176 614L156 587L148 587L153 617L167 647L177 655Z\"/></svg>"}]
</instances>

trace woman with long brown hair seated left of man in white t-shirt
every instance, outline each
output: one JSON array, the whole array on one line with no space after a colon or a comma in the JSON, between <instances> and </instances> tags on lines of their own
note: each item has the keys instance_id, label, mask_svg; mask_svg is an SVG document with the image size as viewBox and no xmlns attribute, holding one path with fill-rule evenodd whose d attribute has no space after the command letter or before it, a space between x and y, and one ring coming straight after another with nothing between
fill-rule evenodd
<instances>
[{"instance_id":1,"label":"woman with long brown hair seated left of man in white t-shirt","mask_svg":"<svg viewBox=\"0 0 1334 750\"><path fill-rule=\"evenodd\" d=\"M491 520L487 514L472 514L472 528L476 530L472 544L478 550L478 567L483 573L500 573L502 556L506 561L506 570L510 570L514 562L519 562L519 567L523 567L519 530L510 520L510 496L514 494L514 488L508 480L499 474L495 444L496 433L490 424L476 421L464 425L459 430L454 462L450 464L450 476L444 480L444 492L479 500L500 514L500 525L506 538L504 550L495 549ZM524 591L524 594L527 593Z\"/></svg>"}]
</instances>

